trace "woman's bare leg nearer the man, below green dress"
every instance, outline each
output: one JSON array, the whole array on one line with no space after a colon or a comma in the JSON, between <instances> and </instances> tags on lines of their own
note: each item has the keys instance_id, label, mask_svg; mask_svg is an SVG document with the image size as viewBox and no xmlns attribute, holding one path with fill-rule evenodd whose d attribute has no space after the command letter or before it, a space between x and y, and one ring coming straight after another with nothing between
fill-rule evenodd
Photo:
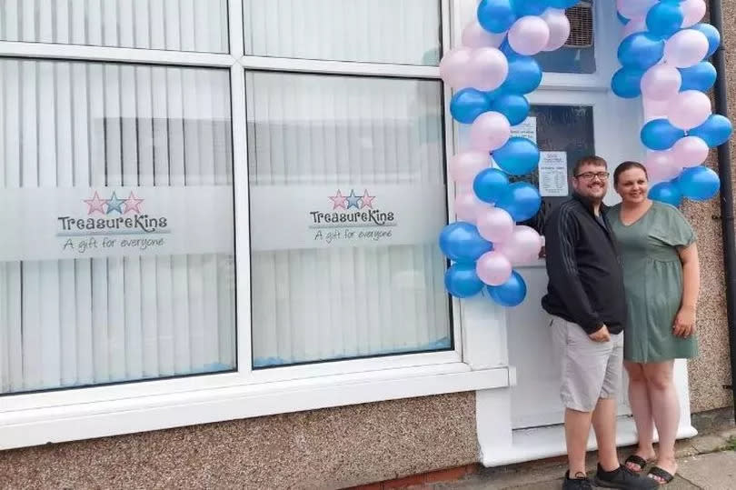
<instances>
[{"instance_id":1,"label":"woman's bare leg nearer the man, below green dress","mask_svg":"<svg viewBox=\"0 0 736 490\"><path fill-rule=\"evenodd\" d=\"M647 378L644 376L642 364L623 361L623 365L629 374L629 405L632 405L636 432L639 435L639 446L636 448L635 454L646 460L650 460L655 456L652 445L654 421L651 417ZM642 470L638 465L632 463L627 465L633 471L638 472Z\"/></svg>"}]
</instances>

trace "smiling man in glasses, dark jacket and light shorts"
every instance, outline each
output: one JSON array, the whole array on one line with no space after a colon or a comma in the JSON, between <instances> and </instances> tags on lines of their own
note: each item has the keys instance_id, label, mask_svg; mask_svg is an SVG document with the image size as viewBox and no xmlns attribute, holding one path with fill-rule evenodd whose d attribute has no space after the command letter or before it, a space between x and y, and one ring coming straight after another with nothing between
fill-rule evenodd
<instances>
[{"instance_id":1,"label":"smiling man in glasses, dark jacket and light shorts","mask_svg":"<svg viewBox=\"0 0 736 490\"><path fill-rule=\"evenodd\" d=\"M552 315L565 405L569 470L562 488L592 488L585 474L591 425L599 453L595 484L653 488L651 478L635 475L616 455L626 303L616 244L602 204L608 188L606 161L584 157L572 175L572 199L552 211L544 227L549 285L542 307Z\"/></svg>"}]
</instances>

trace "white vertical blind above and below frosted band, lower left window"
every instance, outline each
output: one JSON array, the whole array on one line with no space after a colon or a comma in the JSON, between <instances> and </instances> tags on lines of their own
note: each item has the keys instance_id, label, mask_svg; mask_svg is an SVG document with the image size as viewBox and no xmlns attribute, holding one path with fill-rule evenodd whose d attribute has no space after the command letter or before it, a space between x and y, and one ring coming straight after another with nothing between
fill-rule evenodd
<instances>
[{"instance_id":1,"label":"white vertical blind above and below frosted band, lower left window","mask_svg":"<svg viewBox=\"0 0 736 490\"><path fill-rule=\"evenodd\" d=\"M227 70L0 60L0 188L232 192L229 93ZM233 262L0 264L0 392L233 368Z\"/></svg>"}]
</instances>

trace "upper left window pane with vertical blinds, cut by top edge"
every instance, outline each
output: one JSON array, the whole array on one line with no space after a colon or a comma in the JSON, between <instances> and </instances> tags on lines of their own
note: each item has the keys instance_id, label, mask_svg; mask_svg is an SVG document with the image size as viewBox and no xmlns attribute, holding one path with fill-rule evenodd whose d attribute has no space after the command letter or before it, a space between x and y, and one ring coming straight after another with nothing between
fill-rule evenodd
<instances>
[{"instance_id":1,"label":"upper left window pane with vertical blinds, cut by top edge","mask_svg":"<svg viewBox=\"0 0 736 490\"><path fill-rule=\"evenodd\" d=\"M0 0L0 41L225 53L227 0Z\"/></svg>"}]
</instances>

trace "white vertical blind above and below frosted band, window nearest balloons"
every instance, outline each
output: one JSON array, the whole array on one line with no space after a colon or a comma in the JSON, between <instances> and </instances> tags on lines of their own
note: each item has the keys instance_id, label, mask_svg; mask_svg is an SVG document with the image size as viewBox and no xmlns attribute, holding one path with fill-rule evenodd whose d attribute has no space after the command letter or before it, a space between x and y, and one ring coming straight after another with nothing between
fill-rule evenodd
<instances>
[{"instance_id":1,"label":"white vertical blind above and below frosted band, window nearest balloons","mask_svg":"<svg viewBox=\"0 0 736 490\"><path fill-rule=\"evenodd\" d=\"M439 83L248 73L246 86L252 186L443 185ZM434 240L254 252L254 365L448 348L444 269Z\"/></svg>"}]
</instances>

